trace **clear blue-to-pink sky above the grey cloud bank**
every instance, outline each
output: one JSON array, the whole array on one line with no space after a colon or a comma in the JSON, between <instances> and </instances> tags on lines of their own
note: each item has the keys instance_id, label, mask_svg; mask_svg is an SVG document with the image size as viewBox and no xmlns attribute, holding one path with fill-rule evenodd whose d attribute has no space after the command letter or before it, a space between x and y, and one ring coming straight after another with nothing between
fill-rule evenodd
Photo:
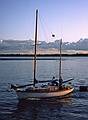
<instances>
[{"instance_id":1,"label":"clear blue-to-pink sky above the grey cloud bank","mask_svg":"<svg viewBox=\"0 0 88 120\"><path fill-rule=\"evenodd\" d=\"M88 0L0 0L0 40L34 39L36 9L40 41L88 38Z\"/></svg>"}]
</instances>

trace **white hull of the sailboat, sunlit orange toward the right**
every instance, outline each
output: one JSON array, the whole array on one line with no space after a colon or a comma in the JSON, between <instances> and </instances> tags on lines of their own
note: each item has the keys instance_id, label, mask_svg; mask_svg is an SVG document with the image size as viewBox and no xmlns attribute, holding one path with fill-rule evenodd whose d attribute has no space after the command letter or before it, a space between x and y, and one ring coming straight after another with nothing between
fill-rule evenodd
<instances>
[{"instance_id":1,"label":"white hull of the sailboat, sunlit orange toward the right","mask_svg":"<svg viewBox=\"0 0 88 120\"><path fill-rule=\"evenodd\" d=\"M55 91L55 92L26 92L26 91L16 91L18 99L31 99L31 98L51 98L51 97L62 97L71 93L74 88Z\"/></svg>"}]
</instances>

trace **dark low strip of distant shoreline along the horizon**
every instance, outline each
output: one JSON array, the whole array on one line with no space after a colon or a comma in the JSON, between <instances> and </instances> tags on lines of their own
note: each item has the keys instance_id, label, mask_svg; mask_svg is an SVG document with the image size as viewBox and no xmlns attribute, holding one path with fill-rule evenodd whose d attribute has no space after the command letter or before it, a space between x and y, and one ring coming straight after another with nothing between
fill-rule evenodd
<instances>
[{"instance_id":1,"label":"dark low strip of distant shoreline along the horizon","mask_svg":"<svg viewBox=\"0 0 88 120\"><path fill-rule=\"evenodd\" d=\"M59 54L38 54L37 60L58 60ZM62 57L88 57L88 54L62 54ZM0 60L33 60L33 54L0 54Z\"/></svg>"}]
</instances>

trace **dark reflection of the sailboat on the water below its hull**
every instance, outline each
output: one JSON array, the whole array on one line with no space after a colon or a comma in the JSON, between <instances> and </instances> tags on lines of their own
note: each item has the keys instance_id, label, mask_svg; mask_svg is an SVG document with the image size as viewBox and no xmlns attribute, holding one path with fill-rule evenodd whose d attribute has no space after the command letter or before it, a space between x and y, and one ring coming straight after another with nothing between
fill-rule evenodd
<instances>
[{"instance_id":1,"label":"dark reflection of the sailboat on the water below its hull","mask_svg":"<svg viewBox=\"0 0 88 120\"><path fill-rule=\"evenodd\" d=\"M63 99L47 99L47 100L22 100L17 104L16 111L11 118L16 120L54 120L61 119L61 111L63 107L72 104L72 99L66 96Z\"/></svg>"}]
</instances>

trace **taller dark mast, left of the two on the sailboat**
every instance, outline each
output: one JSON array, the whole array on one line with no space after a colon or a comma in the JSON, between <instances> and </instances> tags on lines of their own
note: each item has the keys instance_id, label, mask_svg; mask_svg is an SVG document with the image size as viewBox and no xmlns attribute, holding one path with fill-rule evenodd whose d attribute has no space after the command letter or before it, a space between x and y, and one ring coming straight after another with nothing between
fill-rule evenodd
<instances>
[{"instance_id":1,"label":"taller dark mast, left of the two on the sailboat","mask_svg":"<svg viewBox=\"0 0 88 120\"><path fill-rule=\"evenodd\" d=\"M36 45L37 45L37 24L38 24L38 9L36 10L36 24L35 24L35 50L34 50L34 83L36 83Z\"/></svg>"}]
</instances>

